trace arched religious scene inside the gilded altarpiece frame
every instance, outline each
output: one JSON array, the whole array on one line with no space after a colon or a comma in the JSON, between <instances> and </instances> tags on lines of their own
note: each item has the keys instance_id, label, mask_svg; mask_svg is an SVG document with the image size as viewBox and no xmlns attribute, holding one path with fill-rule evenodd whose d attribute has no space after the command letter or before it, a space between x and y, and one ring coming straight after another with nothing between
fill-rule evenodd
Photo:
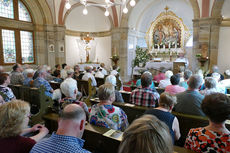
<instances>
[{"instance_id":1,"label":"arched religious scene inside the gilded altarpiece frame","mask_svg":"<svg viewBox=\"0 0 230 153\"><path fill-rule=\"evenodd\" d=\"M165 48L180 48L181 46L181 28L173 19L164 19L156 24L153 29L153 45Z\"/></svg>"}]
</instances>

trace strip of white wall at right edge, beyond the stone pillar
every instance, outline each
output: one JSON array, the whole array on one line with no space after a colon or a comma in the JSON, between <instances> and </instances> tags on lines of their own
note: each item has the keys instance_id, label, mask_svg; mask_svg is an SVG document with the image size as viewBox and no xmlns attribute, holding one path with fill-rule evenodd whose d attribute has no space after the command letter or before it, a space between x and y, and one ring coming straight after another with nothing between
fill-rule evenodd
<instances>
[{"instance_id":1,"label":"strip of white wall at right edge, beyond the stone pillar","mask_svg":"<svg viewBox=\"0 0 230 153\"><path fill-rule=\"evenodd\" d=\"M218 66L220 72L230 69L230 27L221 27L219 34Z\"/></svg>"}]
</instances>

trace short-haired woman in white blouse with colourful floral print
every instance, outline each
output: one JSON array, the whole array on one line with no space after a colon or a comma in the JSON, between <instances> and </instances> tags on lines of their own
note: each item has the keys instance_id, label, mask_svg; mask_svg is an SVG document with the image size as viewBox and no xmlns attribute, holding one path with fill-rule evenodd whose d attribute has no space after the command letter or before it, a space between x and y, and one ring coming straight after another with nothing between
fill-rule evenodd
<instances>
[{"instance_id":1,"label":"short-haired woman in white blouse with colourful floral print","mask_svg":"<svg viewBox=\"0 0 230 153\"><path fill-rule=\"evenodd\" d=\"M114 86L110 83L101 85L98 97L100 103L93 105L90 111L90 124L124 131L128 127L128 119L121 108L112 105L115 100Z\"/></svg>"}]
</instances>

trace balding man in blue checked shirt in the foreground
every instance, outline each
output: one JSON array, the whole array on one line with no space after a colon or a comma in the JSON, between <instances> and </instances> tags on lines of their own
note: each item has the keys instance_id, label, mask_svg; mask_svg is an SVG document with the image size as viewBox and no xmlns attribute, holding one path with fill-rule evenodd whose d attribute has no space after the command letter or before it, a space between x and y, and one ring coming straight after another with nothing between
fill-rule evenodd
<instances>
[{"instance_id":1,"label":"balding man in blue checked shirt in the foreground","mask_svg":"<svg viewBox=\"0 0 230 153\"><path fill-rule=\"evenodd\" d=\"M90 153L83 149L82 135L85 129L85 112L76 104L67 105L60 113L58 130L50 138L37 143L30 153Z\"/></svg>"}]
</instances>

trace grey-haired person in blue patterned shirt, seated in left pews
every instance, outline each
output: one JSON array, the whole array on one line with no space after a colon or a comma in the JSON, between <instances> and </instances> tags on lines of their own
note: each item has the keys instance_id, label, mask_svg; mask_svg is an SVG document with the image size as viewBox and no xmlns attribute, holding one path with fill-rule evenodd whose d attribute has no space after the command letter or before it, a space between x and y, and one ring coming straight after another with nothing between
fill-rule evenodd
<instances>
[{"instance_id":1,"label":"grey-haired person in blue patterned shirt, seated in left pews","mask_svg":"<svg viewBox=\"0 0 230 153\"><path fill-rule=\"evenodd\" d=\"M50 86L49 82L45 80L46 74L47 73L45 69L38 70L38 77L34 80L34 86L36 88L40 88L41 86L44 86L45 95L52 98L53 88Z\"/></svg>"}]
</instances>

